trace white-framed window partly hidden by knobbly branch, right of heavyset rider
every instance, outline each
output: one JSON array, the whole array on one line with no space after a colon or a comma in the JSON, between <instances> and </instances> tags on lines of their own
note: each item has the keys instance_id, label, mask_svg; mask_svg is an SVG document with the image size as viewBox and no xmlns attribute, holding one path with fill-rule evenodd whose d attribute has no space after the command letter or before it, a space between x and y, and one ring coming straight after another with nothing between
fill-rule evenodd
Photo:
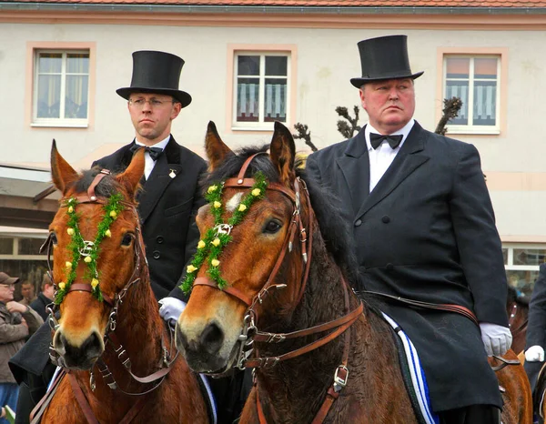
<instances>
[{"instance_id":1,"label":"white-framed window partly hidden by knobbly branch, right of heavyset rider","mask_svg":"<svg viewBox=\"0 0 546 424\"><path fill-rule=\"evenodd\" d=\"M459 116L450 120L449 133L500 132L501 56L444 56L444 98L462 100Z\"/></svg>"}]
</instances>

